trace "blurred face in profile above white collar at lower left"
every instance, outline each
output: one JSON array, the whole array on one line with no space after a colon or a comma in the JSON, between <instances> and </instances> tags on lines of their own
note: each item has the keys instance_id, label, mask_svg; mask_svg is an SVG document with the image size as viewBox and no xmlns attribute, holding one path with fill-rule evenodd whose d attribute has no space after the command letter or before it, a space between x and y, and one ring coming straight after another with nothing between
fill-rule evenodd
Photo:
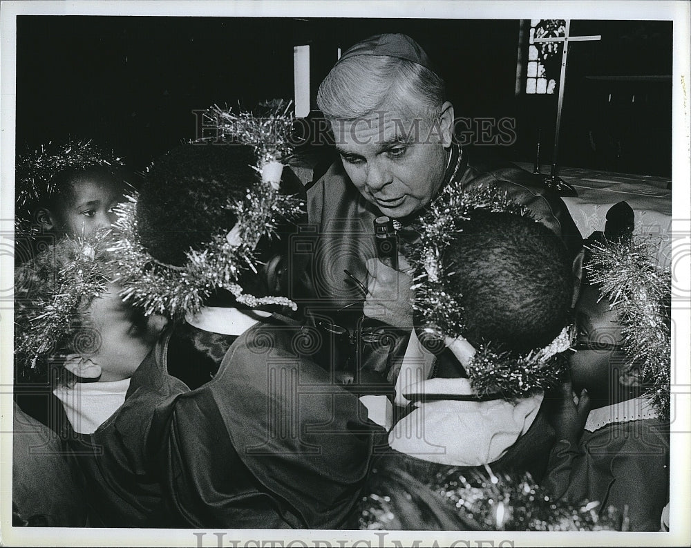
<instances>
[{"instance_id":1,"label":"blurred face in profile above white collar at lower left","mask_svg":"<svg viewBox=\"0 0 691 548\"><path fill-rule=\"evenodd\" d=\"M166 324L162 316L144 318L138 310L123 303L117 292L117 286L108 284L108 290L91 303L88 328L98 334L94 345L97 348L80 354L85 361L91 361L88 365L95 366L96 372L100 370L102 382L131 377Z\"/></svg>"}]
</instances>

